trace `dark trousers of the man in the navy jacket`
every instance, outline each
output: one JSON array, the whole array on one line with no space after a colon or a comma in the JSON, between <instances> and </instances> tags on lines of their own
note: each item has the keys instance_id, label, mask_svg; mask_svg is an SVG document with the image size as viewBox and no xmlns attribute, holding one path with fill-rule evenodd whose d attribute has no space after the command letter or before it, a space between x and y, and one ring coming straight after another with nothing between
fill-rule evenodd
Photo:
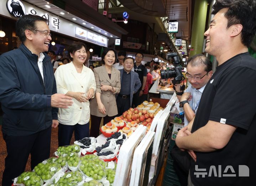
<instances>
[{"instance_id":1,"label":"dark trousers of the man in the navy jacket","mask_svg":"<svg viewBox=\"0 0 256 186\"><path fill-rule=\"evenodd\" d=\"M50 156L51 127L30 136L7 136L3 133L7 156L2 186L11 186L15 177L24 172L29 154L31 170Z\"/></svg>"}]
</instances>

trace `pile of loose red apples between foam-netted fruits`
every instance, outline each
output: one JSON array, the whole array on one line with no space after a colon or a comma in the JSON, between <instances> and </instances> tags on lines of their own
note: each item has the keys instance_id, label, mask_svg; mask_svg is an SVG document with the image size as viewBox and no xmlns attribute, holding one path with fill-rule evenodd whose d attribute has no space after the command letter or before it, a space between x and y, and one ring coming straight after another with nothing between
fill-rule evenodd
<instances>
[{"instance_id":1,"label":"pile of loose red apples between foam-netted fruits","mask_svg":"<svg viewBox=\"0 0 256 186\"><path fill-rule=\"evenodd\" d=\"M147 110L139 110L137 108L130 108L129 110L126 110L122 116L124 121L132 122L135 121L137 124L142 122L142 125L147 125L148 123L151 124L154 114L148 113Z\"/></svg>"}]
</instances>

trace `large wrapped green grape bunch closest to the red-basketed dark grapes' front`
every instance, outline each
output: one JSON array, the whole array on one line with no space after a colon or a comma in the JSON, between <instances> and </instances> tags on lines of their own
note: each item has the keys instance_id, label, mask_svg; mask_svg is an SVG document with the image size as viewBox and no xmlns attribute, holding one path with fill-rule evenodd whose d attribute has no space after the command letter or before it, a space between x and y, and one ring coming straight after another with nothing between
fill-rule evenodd
<instances>
[{"instance_id":1,"label":"large wrapped green grape bunch closest to the red-basketed dark grapes' front","mask_svg":"<svg viewBox=\"0 0 256 186\"><path fill-rule=\"evenodd\" d=\"M81 157L78 169L86 176L95 180L101 180L106 177L106 162L99 158L88 159L88 155Z\"/></svg>"}]
</instances>

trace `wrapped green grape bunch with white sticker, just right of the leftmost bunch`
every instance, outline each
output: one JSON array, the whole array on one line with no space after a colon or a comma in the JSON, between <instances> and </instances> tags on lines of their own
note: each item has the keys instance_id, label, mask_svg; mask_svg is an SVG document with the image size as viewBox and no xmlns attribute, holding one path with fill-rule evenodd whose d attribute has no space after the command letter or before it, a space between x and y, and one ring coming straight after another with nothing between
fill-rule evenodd
<instances>
[{"instance_id":1,"label":"wrapped green grape bunch with white sticker, just right of the leftmost bunch","mask_svg":"<svg viewBox=\"0 0 256 186\"><path fill-rule=\"evenodd\" d=\"M35 166L34 171L46 183L52 182L59 174L63 173L61 166L55 162L39 163Z\"/></svg>"}]
</instances>

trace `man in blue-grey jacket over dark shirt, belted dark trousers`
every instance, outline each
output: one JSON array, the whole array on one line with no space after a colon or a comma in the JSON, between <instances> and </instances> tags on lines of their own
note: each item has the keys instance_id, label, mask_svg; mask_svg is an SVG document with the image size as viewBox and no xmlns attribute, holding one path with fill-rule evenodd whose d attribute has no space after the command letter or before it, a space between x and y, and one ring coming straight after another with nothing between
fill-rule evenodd
<instances>
[{"instance_id":1,"label":"man in blue-grey jacket over dark shirt, belted dark trousers","mask_svg":"<svg viewBox=\"0 0 256 186\"><path fill-rule=\"evenodd\" d=\"M124 69L120 70L121 90L116 98L118 115L128 110L131 107L133 94L141 87L141 82L138 73L132 71L134 59L131 57L125 58Z\"/></svg>"}]
</instances>

